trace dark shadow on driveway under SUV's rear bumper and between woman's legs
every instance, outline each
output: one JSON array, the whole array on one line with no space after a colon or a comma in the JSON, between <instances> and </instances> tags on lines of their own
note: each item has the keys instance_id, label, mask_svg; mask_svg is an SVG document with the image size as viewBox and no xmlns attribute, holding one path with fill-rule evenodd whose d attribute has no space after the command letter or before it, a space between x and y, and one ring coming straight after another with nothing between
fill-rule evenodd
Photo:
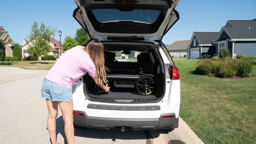
<instances>
[{"instance_id":1,"label":"dark shadow on driveway under SUV's rear bumper and between woman's legs","mask_svg":"<svg viewBox=\"0 0 256 144\"><path fill-rule=\"evenodd\" d=\"M82 128L75 127L75 136L84 137L84 138L93 138L93 139L112 139L112 141L119 140L140 140L145 139L150 143L150 139L159 137L161 133L168 134L162 130L151 131L125 131L121 132L120 130L104 130L104 129L93 129L93 128ZM67 144L67 139L64 132L64 121L63 117L60 116L56 119L56 136L61 134L64 138L64 143Z\"/></svg>"}]
</instances>

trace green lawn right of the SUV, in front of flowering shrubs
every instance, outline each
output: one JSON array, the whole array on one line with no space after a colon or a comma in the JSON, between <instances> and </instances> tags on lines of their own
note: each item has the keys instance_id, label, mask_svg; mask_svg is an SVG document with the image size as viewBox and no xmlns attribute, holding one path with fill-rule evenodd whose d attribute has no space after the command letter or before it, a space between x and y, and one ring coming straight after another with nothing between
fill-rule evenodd
<instances>
[{"instance_id":1,"label":"green lawn right of the SUV, in front of flowering shrubs","mask_svg":"<svg viewBox=\"0 0 256 144\"><path fill-rule=\"evenodd\" d=\"M205 143L256 142L256 65L253 77L193 74L198 60L174 60L181 82L180 116Z\"/></svg>"}]
</instances>

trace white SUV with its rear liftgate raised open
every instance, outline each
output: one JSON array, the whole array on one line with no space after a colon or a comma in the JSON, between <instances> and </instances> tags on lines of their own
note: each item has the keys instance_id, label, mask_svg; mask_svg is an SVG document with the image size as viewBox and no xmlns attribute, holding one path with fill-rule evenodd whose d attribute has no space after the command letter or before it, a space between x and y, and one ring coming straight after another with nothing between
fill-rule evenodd
<instances>
[{"instance_id":1,"label":"white SUV with its rear liftgate raised open","mask_svg":"<svg viewBox=\"0 0 256 144\"><path fill-rule=\"evenodd\" d=\"M74 125L172 131L178 127L180 78L162 43L179 20L179 0L75 0L73 17L104 45L110 92L85 75L73 86Z\"/></svg>"}]
</instances>

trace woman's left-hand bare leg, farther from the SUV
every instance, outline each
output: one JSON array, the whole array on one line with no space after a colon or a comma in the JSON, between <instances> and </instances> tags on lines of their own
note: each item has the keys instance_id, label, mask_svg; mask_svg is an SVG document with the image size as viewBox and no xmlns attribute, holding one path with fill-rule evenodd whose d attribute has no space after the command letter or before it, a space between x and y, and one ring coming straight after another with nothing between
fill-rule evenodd
<instances>
[{"instance_id":1,"label":"woman's left-hand bare leg, farther from the SUV","mask_svg":"<svg viewBox=\"0 0 256 144\"><path fill-rule=\"evenodd\" d=\"M56 139L56 118L58 116L58 102L46 99L48 107L47 128L52 144L59 144Z\"/></svg>"}]
</instances>

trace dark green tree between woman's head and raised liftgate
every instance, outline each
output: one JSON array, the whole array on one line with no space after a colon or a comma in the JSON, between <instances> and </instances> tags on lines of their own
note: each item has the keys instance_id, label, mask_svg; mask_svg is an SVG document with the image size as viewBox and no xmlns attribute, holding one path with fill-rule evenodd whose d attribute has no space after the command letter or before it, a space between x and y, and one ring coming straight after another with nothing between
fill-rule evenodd
<instances>
[{"instance_id":1,"label":"dark green tree between woman's head and raised liftgate","mask_svg":"<svg viewBox=\"0 0 256 144\"><path fill-rule=\"evenodd\" d=\"M83 28L78 28L76 30L76 41L78 45L85 46L87 42L90 40L87 32Z\"/></svg>"}]
</instances>

